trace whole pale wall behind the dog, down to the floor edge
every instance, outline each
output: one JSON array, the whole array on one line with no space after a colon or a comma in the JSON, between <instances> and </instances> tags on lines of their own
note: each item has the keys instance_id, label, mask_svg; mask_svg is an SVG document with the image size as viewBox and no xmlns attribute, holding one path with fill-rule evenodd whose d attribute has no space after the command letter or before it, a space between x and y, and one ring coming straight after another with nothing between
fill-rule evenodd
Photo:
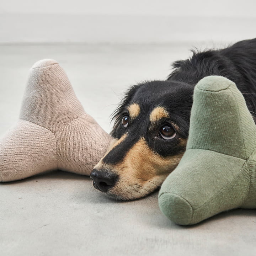
<instances>
[{"instance_id":1,"label":"whole pale wall behind the dog, down to the floor edge","mask_svg":"<svg viewBox=\"0 0 256 256\"><path fill-rule=\"evenodd\" d=\"M236 41L256 37L255 0L0 0L0 42Z\"/></svg>"}]
</instances>

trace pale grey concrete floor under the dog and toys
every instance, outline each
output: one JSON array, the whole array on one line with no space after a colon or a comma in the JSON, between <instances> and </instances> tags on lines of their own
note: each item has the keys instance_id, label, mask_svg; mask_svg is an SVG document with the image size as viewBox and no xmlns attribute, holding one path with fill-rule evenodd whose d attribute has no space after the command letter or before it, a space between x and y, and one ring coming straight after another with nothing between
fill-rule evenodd
<instances>
[{"instance_id":1,"label":"pale grey concrete floor under the dog and toys","mask_svg":"<svg viewBox=\"0 0 256 256\"><path fill-rule=\"evenodd\" d=\"M110 132L109 116L130 85L165 79L191 46L212 45L0 46L0 135L16 122L28 70L39 59L63 66L85 110ZM237 209L182 227L161 214L157 192L115 202L89 177L52 172L0 184L0 255L250 256L255 217Z\"/></svg>"}]
</instances>

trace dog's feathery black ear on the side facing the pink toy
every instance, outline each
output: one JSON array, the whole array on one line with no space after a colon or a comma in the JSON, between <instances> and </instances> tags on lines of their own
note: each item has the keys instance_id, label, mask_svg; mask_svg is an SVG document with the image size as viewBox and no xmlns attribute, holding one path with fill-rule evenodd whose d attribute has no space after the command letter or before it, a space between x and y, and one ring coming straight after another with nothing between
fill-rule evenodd
<instances>
[{"instance_id":1,"label":"dog's feathery black ear on the side facing the pink toy","mask_svg":"<svg viewBox=\"0 0 256 256\"><path fill-rule=\"evenodd\" d=\"M133 85L129 90L127 90L124 93L123 99L119 103L117 109L112 113L111 122L114 121L114 125L110 135L113 138L117 138L117 130L123 118L122 113L124 111L124 108L129 106L130 102L132 102L132 99L140 86L141 84Z\"/></svg>"}]
</instances>

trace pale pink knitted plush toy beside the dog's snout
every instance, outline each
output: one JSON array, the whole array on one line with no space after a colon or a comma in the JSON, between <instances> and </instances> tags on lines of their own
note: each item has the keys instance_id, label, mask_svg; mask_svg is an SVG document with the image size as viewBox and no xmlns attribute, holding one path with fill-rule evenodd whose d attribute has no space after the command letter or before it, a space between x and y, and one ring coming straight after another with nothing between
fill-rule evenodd
<instances>
[{"instance_id":1,"label":"pale pink knitted plush toy beside the dog's snout","mask_svg":"<svg viewBox=\"0 0 256 256\"><path fill-rule=\"evenodd\" d=\"M41 60L30 71L19 121L0 139L0 181L55 169L90 175L110 140L59 64Z\"/></svg>"}]
</instances>

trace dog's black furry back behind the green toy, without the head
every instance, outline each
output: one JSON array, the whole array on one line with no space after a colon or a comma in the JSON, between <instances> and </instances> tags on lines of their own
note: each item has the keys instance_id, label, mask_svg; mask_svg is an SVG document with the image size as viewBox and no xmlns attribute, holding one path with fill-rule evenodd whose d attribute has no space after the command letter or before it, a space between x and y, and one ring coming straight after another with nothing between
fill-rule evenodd
<instances>
[{"instance_id":1,"label":"dog's black furry back behind the green toy, without the head","mask_svg":"<svg viewBox=\"0 0 256 256\"><path fill-rule=\"evenodd\" d=\"M256 38L221 50L193 51L190 59L177 61L173 66L169 81L196 85L205 76L220 75L235 82L256 116Z\"/></svg>"}]
</instances>

